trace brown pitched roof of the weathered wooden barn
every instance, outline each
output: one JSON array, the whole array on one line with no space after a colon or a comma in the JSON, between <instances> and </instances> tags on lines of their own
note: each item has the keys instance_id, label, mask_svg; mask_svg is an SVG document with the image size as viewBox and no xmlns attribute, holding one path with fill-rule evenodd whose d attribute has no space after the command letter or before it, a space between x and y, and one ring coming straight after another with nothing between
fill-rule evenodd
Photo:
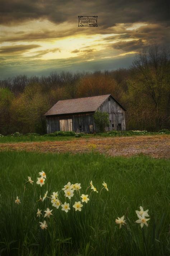
<instances>
[{"instance_id":1,"label":"brown pitched roof of the weathered wooden barn","mask_svg":"<svg viewBox=\"0 0 170 256\"><path fill-rule=\"evenodd\" d=\"M59 100L50 108L44 116L57 114L71 114L81 112L94 112L109 97L110 94L93 96L78 99ZM113 96L112 96L113 97ZM114 97L113 97L114 98ZM115 99L114 99L115 100ZM126 110L117 100L115 100L124 110Z\"/></svg>"}]
</instances>

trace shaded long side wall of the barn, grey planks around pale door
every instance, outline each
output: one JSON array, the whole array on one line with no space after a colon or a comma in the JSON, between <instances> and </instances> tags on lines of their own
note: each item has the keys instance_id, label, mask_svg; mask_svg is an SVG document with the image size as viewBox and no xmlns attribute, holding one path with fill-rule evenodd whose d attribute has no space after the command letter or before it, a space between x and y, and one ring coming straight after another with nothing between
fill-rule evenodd
<instances>
[{"instance_id":1,"label":"shaded long side wall of the barn, grey planks around pale door","mask_svg":"<svg viewBox=\"0 0 170 256\"><path fill-rule=\"evenodd\" d=\"M60 120L72 119L72 130L80 132L79 125L82 126L82 131L90 133L89 125L94 125L93 113L84 114L69 114L64 116L46 116L47 133L60 131Z\"/></svg>"}]
</instances>

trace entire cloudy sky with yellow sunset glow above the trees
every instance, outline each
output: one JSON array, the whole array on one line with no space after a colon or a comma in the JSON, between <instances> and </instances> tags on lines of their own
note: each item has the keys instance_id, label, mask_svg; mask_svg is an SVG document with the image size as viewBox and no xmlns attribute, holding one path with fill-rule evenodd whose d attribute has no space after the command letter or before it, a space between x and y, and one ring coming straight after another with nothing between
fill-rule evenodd
<instances>
[{"instance_id":1,"label":"entire cloudy sky with yellow sunset glow above the trees","mask_svg":"<svg viewBox=\"0 0 170 256\"><path fill-rule=\"evenodd\" d=\"M143 47L170 42L169 4L157 0L0 0L0 80L127 68ZM98 27L78 27L78 16Z\"/></svg>"}]
</instances>

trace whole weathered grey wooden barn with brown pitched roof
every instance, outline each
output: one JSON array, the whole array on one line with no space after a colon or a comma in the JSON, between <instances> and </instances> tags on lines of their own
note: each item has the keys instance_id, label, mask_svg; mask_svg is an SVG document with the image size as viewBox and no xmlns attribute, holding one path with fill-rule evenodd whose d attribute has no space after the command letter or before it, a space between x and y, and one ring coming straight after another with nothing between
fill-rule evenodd
<instances>
[{"instance_id":1,"label":"whole weathered grey wooden barn with brown pitched roof","mask_svg":"<svg viewBox=\"0 0 170 256\"><path fill-rule=\"evenodd\" d=\"M110 94L59 100L49 111L44 114L47 121L47 133L55 131L75 131L93 133L98 131L93 114L95 111L109 113L111 130L126 130L126 109Z\"/></svg>"}]
</instances>

